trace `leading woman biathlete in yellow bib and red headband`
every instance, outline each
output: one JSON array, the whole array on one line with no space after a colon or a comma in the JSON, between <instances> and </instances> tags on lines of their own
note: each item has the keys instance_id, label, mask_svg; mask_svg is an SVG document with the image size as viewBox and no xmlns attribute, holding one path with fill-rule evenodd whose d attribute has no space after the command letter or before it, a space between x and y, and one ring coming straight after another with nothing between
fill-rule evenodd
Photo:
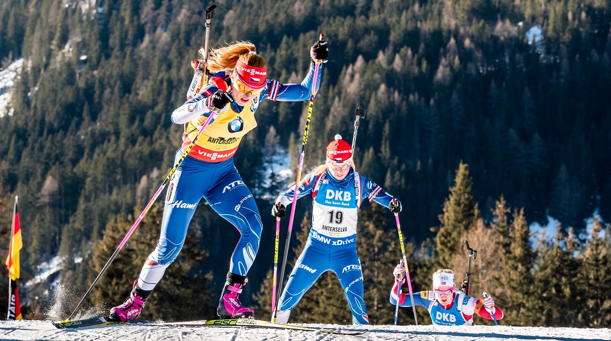
<instances>
[{"instance_id":1,"label":"leading woman biathlete in yellow bib and red headband","mask_svg":"<svg viewBox=\"0 0 611 341\"><path fill-rule=\"evenodd\" d=\"M312 62L324 62L327 43L318 41L310 49ZM200 56L207 51L200 50ZM185 141L176 161L197 136L211 112L222 109L216 120L200 134L189 155L170 180L161 237L155 251L148 255L140 276L125 303L111 309L114 320L131 320L140 314L148 296L161 280L167 266L176 259L185 243L189 221L206 199L216 213L227 219L241 234L233 251L227 282L221 293L217 314L221 318L251 317L238 296L246 284L246 274L257 255L262 222L255 199L233 166L233 155L243 136L257 127L255 111L265 99L303 101L310 97L312 82L320 86L320 73L313 79L314 67L301 84L280 84L267 79L265 59L249 42L236 42L211 51L208 70L216 72L207 86L172 113L172 122L188 123Z\"/></svg>"}]
</instances>

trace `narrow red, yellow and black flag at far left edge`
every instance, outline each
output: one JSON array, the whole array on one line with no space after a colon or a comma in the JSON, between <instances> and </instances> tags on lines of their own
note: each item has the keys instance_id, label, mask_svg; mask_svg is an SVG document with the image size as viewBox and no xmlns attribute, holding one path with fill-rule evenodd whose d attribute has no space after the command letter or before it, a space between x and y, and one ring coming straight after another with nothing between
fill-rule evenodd
<instances>
[{"instance_id":1,"label":"narrow red, yellow and black flag at far left edge","mask_svg":"<svg viewBox=\"0 0 611 341\"><path fill-rule=\"evenodd\" d=\"M15 210L13 215L12 237L9 244L9 256L6 258L6 266L9 268L10 290L9 311L7 320L21 320L21 306L19 304L19 292L17 282L19 278L19 251L21 250L21 226L19 224L19 213L17 211L17 197L15 197Z\"/></svg>"}]
</instances>

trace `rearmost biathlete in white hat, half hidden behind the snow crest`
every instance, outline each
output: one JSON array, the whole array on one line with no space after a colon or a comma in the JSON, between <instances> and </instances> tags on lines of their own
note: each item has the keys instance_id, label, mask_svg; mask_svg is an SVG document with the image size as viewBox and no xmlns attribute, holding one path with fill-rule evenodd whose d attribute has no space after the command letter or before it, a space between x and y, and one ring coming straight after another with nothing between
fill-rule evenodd
<instances>
[{"instance_id":1,"label":"rearmost biathlete in white hat, half hidden behind the snow crest","mask_svg":"<svg viewBox=\"0 0 611 341\"><path fill-rule=\"evenodd\" d=\"M401 287L405 283L404 266L401 264L397 265L393 275L395 276L395 285L393 285L390 291L390 303L396 306L399 280L401 281ZM437 270L433 273L433 290L417 292L413 293L413 295L414 304L425 307L428 310L431 320L433 320L433 325L470 326L473 324L474 314L488 320L493 319L492 315L494 315L497 321L503 318L503 312L499 307L494 306L492 296L477 299L457 290L454 284L454 273L449 269ZM401 293L399 306L412 306L409 293Z\"/></svg>"}]
</instances>

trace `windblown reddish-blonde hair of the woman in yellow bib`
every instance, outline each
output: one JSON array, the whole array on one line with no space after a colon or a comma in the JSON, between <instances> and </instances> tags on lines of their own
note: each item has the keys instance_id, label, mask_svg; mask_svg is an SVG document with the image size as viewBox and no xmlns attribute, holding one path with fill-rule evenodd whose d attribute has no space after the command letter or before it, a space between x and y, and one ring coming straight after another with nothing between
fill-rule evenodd
<instances>
[{"instance_id":1,"label":"windblown reddish-blonde hair of the woman in yellow bib","mask_svg":"<svg viewBox=\"0 0 611 341\"><path fill-rule=\"evenodd\" d=\"M233 71L238 60L252 67L266 67L265 59L256 52L257 48L251 42L234 42L227 46L216 48L208 54L208 70L211 73ZM203 59L206 56L206 50L200 48L198 54L200 59Z\"/></svg>"}]
</instances>

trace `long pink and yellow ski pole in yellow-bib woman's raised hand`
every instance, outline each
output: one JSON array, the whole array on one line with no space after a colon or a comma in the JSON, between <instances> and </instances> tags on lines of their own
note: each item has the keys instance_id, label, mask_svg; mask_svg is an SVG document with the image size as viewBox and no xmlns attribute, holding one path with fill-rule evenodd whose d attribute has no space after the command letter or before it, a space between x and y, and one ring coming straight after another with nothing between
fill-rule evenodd
<instances>
[{"instance_id":1,"label":"long pink and yellow ski pole in yellow-bib woman's raised hand","mask_svg":"<svg viewBox=\"0 0 611 341\"><path fill-rule=\"evenodd\" d=\"M324 34L320 34L320 40L324 40ZM295 207L297 206L297 193L299 192L299 180L301 180L301 171L304 166L304 157L305 157L305 145L307 144L307 135L310 131L310 120L312 119L312 106L314 105L314 97L316 96L316 80L318 79L318 70L320 70L320 63L316 63L314 66L314 77L312 78L312 90L310 90L310 104L307 110L307 119L305 119L305 129L304 129L304 139L301 144L301 155L299 155L299 165L297 167L297 180L295 182L295 193L293 193L293 205L291 207L291 216L288 219L288 231L287 231L287 243L284 245L284 259L282 260L282 270L280 271L280 285L279 288L282 289L282 282L284 279L284 270L287 265L287 256L288 256L288 244L291 241L291 231L293 230L293 218L295 218ZM282 290L278 290L278 296L276 301L280 303L280 294ZM276 312L272 312L272 320L276 318Z\"/></svg>"}]
</instances>

